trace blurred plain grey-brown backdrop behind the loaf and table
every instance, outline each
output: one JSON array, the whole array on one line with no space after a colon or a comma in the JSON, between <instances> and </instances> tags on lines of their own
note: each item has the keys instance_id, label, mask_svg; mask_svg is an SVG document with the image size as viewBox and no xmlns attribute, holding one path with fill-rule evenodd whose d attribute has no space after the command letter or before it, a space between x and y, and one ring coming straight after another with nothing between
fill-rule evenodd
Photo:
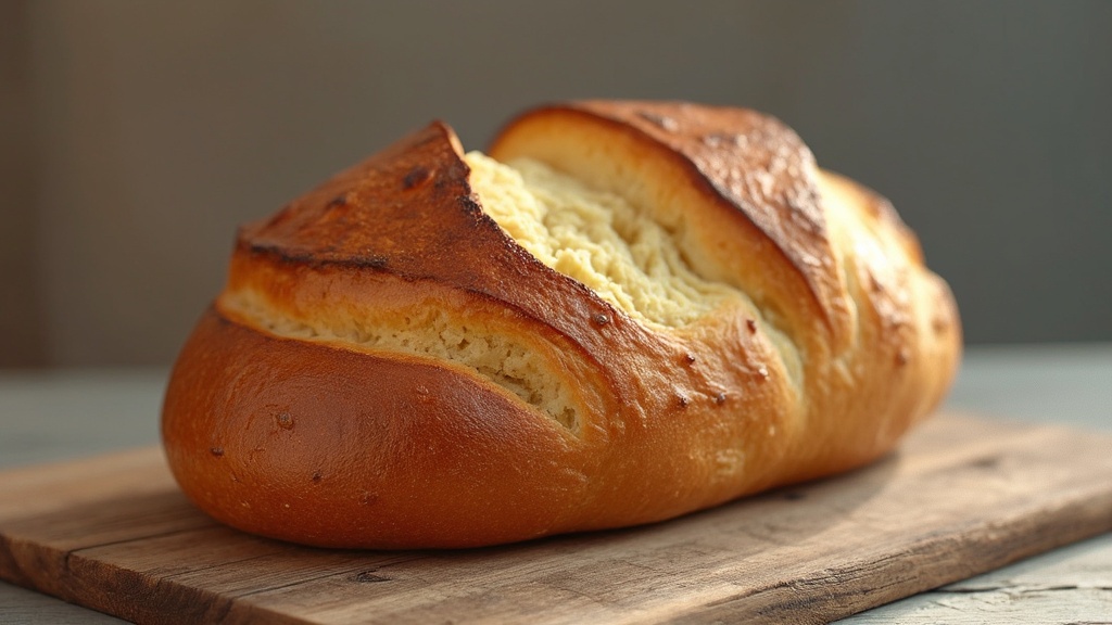
<instances>
[{"instance_id":1,"label":"blurred plain grey-brown backdrop behind the loaf and table","mask_svg":"<svg viewBox=\"0 0 1112 625\"><path fill-rule=\"evenodd\" d=\"M0 366L166 365L237 224L434 118L739 105L890 197L966 340L1112 340L1112 2L0 2Z\"/></svg>"}]
</instances>

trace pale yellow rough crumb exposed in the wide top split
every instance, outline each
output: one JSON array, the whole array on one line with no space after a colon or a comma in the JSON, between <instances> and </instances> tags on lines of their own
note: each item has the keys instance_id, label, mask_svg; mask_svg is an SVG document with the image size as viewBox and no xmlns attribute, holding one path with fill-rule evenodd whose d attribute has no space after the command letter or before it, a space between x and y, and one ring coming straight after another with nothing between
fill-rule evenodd
<instances>
[{"instance_id":1,"label":"pale yellow rough crumb exposed in the wide top split","mask_svg":"<svg viewBox=\"0 0 1112 625\"><path fill-rule=\"evenodd\" d=\"M502 163L480 152L464 159L484 210L507 235L633 318L681 327L739 297L696 275L677 237L625 198L535 160Z\"/></svg>"}]
</instances>

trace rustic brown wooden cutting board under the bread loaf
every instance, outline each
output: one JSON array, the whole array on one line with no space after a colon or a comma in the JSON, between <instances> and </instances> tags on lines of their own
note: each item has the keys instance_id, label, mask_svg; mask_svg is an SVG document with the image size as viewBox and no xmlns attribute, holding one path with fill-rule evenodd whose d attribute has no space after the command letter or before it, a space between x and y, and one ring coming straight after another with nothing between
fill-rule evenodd
<instances>
[{"instance_id":1,"label":"rustic brown wooden cutting board under the bread loaf","mask_svg":"<svg viewBox=\"0 0 1112 625\"><path fill-rule=\"evenodd\" d=\"M461 552L217 525L157 448L0 474L0 577L139 623L822 623L1112 529L1112 437L942 415L668 523Z\"/></svg>"}]
</instances>

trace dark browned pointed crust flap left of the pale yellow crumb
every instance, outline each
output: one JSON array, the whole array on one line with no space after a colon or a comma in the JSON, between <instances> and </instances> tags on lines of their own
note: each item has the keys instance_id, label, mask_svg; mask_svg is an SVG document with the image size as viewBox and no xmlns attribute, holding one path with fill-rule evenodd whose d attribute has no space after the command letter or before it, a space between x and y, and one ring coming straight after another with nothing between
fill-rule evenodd
<instances>
[{"instance_id":1,"label":"dark browned pointed crust flap left of the pale yellow crumb","mask_svg":"<svg viewBox=\"0 0 1112 625\"><path fill-rule=\"evenodd\" d=\"M238 247L463 289L590 341L584 327L609 320L609 307L507 237L483 212L468 172L455 132L434 122L244 227Z\"/></svg>"}]
</instances>

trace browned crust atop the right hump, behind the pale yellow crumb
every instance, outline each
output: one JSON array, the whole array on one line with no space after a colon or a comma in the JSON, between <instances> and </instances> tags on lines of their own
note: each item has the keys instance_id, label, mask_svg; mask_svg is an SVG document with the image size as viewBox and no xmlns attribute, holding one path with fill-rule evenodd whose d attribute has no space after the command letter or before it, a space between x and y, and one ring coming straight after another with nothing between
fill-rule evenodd
<instances>
[{"instance_id":1,"label":"browned crust atop the right hump, behind the pale yellow crumb","mask_svg":"<svg viewBox=\"0 0 1112 625\"><path fill-rule=\"evenodd\" d=\"M734 214L767 238L771 251L805 281L820 305L820 318L836 307L841 285L818 206L814 157L777 119L749 109L628 101L578 102L526 117L538 115L610 121L622 133L643 136L641 142L657 148L654 156L686 171L683 183L715 198L723 215ZM763 259L764 265L776 262Z\"/></svg>"}]
</instances>

